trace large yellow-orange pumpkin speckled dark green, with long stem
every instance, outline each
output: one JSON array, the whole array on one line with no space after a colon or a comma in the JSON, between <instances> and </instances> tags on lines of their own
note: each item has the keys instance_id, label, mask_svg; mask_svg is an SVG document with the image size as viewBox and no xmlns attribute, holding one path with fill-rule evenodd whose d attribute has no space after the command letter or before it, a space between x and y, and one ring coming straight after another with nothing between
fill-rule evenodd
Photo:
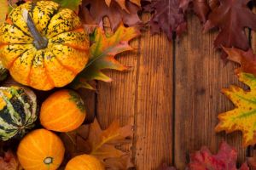
<instances>
[{"instance_id":1,"label":"large yellow-orange pumpkin speckled dark green, with long stem","mask_svg":"<svg viewBox=\"0 0 256 170\"><path fill-rule=\"evenodd\" d=\"M39 90L63 87L84 69L88 39L73 10L28 2L0 26L0 59L16 82Z\"/></svg>"}]
</instances>

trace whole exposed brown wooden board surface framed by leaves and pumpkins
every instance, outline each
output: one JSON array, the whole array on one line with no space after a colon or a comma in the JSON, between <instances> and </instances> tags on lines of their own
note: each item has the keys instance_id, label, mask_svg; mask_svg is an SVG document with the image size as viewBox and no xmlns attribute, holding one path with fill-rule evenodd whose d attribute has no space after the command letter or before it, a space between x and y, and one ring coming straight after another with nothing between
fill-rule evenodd
<instances>
[{"instance_id":1,"label":"whole exposed brown wooden board surface framed by leaves and pumpkins","mask_svg":"<svg viewBox=\"0 0 256 170\"><path fill-rule=\"evenodd\" d=\"M247 156L241 133L214 132L218 114L234 107L221 88L244 87L234 74L237 65L224 65L214 50L217 32L202 34L195 16L188 21L189 32L179 42L143 32L131 42L137 50L118 57L131 70L106 71L114 81L99 82L97 94L87 97L102 127L114 119L134 125L133 143L125 150L138 170L159 169L162 162L184 169L189 152L207 145L216 153L222 140L236 147L240 164Z\"/></svg>"}]
</instances>

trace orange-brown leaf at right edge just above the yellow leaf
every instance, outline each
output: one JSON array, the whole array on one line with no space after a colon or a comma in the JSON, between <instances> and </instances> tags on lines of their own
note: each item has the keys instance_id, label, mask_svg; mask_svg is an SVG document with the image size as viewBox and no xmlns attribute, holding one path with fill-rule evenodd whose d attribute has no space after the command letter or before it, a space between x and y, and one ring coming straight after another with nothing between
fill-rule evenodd
<instances>
[{"instance_id":1,"label":"orange-brown leaf at right edge just above the yellow leaf","mask_svg":"<svg viewBox=\"0 0 256 170\"><path fill-rule=\"evenodd\" d=\"M253 49L243 51L238 48L223 48L224 52L228 54L228 58L241 65L236 69L237 72L252 73L256 76L256 55L253 54Z\"/></svg>"}]
</instances>

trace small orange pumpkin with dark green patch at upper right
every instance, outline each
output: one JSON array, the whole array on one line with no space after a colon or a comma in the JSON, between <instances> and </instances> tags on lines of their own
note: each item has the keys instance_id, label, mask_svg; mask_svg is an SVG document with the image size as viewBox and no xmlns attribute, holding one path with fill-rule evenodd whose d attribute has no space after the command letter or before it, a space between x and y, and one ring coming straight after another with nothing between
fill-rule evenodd
<instances>
[{"instance_id":1,"label":"small orange pumpkin with dark green patch at upper right","mask_svg":"<svg viewBox=\"0 0 256 170\"><path fill-rule=\"evenodd\" d=\"M45 99L41 111L40 122L56 132L69 132L79 127L85 119L84 101L73 90L62 89Z\"/></svg>"}]
</instances>

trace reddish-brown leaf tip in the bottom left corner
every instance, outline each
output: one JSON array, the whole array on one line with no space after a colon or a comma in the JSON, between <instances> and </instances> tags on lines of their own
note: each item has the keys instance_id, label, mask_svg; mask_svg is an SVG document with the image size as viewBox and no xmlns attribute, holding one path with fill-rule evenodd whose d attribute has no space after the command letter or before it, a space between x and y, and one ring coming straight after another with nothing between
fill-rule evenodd
<instances>
[{"instance_id":1,"label":"reddish-brown leaf tip in the bottom left corner","mask_svg":"<svg viewBox=\"0 0 256 170\"><path fill-rule=\"evenodd\" d=\"M20 162L14 153L8 150L3 157L0 157L1 170L21 170Z\"/></svg>"}]
</instances>

